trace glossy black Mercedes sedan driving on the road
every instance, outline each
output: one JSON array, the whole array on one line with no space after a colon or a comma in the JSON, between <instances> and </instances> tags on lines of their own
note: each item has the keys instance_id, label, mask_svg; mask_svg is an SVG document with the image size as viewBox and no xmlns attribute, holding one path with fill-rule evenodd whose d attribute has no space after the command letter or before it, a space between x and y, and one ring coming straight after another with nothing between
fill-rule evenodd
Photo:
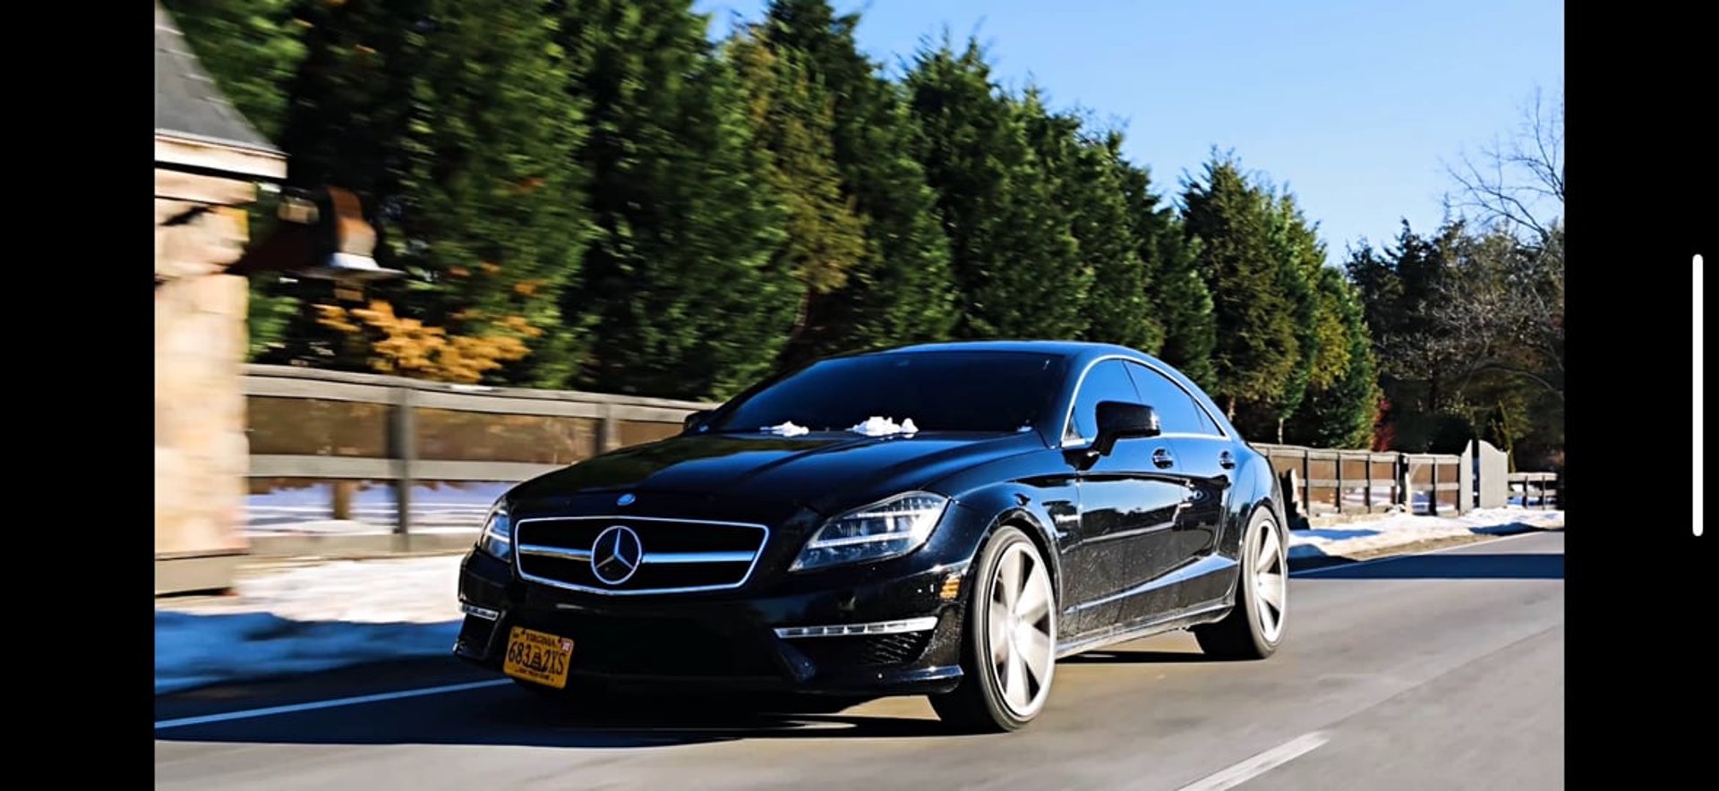
<instances>
[{"instance_id":1,"label":"glossy black Mercedes sedan driving on the road","mask_svg":"<svg viewBox=\"0 0 1719 791\"><path fill-rule=\"evenodd\" d=\"M454 652L569 700L928 695L1011 731L1061 657L1169 629L1274 653L1284 524L1267 459L1148 354L837 356L511 488L461 566Z\"/></svg>"}]
</instances>

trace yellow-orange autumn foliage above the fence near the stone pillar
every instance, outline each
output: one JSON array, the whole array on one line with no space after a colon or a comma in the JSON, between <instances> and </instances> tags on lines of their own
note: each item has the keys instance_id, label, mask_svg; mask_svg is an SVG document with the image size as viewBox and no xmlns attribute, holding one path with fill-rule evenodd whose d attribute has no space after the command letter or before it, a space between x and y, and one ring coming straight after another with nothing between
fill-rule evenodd
<instances>
[{"instance_id":1,"label":"yellow-orange autumn foliage above the fence near the stone pillar","mask_svg":"<svg viewBox=\"0 0 1719 791\"><path fill-rule=\"evenodd\" d=\"M428 327L416 318L394 315L394 306L371 299L368 308L316 306L316 322L340 332L366 332L375 335L370 349L370 368L378 373L428 378L437 382L476 383L485 371L531 354L524 337L538 337L543 330L531 327L524 316L502 316L493 322L504 332L486 335L449 335L444 327ZM468 316L469 318L469 316ZM356 323L363 322L363 325Z\"/></svg>"}]
</instances>

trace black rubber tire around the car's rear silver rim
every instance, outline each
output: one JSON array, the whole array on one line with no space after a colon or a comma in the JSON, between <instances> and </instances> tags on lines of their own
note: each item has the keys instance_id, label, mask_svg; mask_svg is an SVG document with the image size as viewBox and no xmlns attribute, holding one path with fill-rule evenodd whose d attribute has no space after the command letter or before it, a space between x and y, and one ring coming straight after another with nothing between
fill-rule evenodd
<instances>
[{"instance_id":1,"label":"black rubber tire around the car's rear silver rim","mask_svg":"<svg viewBox=\"0 0 1719 791\"><path fill-rule=\"evenodd\" d=\"M1222 621L1193 628L1195 640L1200 641L1200 648L1208 657L1224 660L1253 660L1277 653L1277 647L1282 645L1286 607L1277 609L1262 602L1257 581L1262 574L1260 555L1267 550L1275 554L1272 567L1265 573L1282 574L1282 593L1279 593L1279 602L1288 605L1288 535L1277 524L1272 511L1263 506L1255 509L1253 518L1248 519L1248 530L1241 535L1241 569L1239 574L1236 574L1236 605L1227 616L1224 616ZM1267 614L1275 614L1275 635L1267 633L1267 628L1262 624L1260 607L1269 607Z\"/></svg>"}]
</instances>

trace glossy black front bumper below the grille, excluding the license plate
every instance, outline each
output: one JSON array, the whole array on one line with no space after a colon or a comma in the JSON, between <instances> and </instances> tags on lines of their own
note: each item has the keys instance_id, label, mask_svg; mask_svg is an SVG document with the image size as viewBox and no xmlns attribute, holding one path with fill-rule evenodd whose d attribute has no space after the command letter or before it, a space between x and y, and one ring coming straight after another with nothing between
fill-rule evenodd
<instances>
[{"instance_id":1,"label":"glossy black front bumper below the grille, excluding the license plate","mask_svg":"<svg viewBox=\"0 0 1719 791\"><path fill-rule=\"evenodd\" d=\"M961 681L963 576L964 564L724 595L603 597L523 583L511 564L473 552L461 566L468 616L454 653L499 671L509 629L521 626L574 641L569 684L940 693Z\"/></svg>"}]
</instances>

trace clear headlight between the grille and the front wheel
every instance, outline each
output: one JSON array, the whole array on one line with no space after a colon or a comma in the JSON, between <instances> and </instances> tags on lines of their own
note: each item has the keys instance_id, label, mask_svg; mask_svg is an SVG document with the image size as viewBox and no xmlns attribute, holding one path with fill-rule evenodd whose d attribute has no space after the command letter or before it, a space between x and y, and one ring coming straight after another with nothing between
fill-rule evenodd
<instances>
[{"instance_id":1,"label":"clear headlight between the grille and the front wheel","mask_svg":"<svg viewBox=\"0 0 1719 791\"><path fill-rule=\"evenodd\" d=\"M908 492L837 516L806 542L789 571L882 561L913 552L932 535L949 499Z\"/></svg>"}]
</instances>

